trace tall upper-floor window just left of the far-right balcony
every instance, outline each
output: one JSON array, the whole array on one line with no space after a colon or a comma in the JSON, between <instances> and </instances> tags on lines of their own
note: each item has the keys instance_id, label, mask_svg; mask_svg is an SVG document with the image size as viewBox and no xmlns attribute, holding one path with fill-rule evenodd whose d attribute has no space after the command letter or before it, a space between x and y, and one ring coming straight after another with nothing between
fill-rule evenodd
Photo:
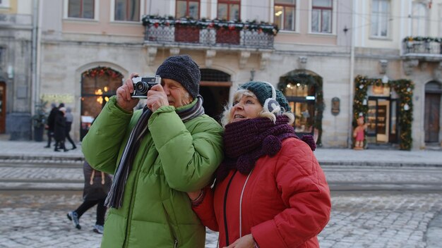
<instances>
[{"instance_id":1,"label":"tall upper-floor window just left of the far-right balcony","mask_svg":"<svg viewBox=\"0 0 442 248\"><path fill-rule=\"evenodd\" d=\"M371 6L371 36L388 37L390 0L373 0Z\"/></svg>"}]
</instances>

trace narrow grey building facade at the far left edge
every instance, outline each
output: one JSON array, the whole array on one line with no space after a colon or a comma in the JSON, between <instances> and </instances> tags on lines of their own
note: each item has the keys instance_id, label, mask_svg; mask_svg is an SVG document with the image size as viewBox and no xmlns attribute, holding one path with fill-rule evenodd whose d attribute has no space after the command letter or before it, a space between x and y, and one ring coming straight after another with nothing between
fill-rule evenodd
<instances>
[{"instance_id":1,"label":"narrow grey building facade at the far left edge","mask_svg":"<svg viewBox=\"0 0 442 248\"><path fill-rule=\"evenodd\" d=\"M0 2L0 133L31 138L32 4Z\"/></svg>"}]
</instances>

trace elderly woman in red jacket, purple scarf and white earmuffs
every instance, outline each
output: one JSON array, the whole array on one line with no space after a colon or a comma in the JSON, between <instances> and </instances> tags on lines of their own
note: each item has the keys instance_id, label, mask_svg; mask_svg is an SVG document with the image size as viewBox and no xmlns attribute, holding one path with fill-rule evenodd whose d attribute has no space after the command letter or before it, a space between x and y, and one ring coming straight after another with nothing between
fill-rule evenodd
<instances>
[{"instance_id":1,"label":"elderly woman in red jacket, purple scarf and white earmuffs","mask_svg":"<svg viewBox=\"0 0 442 248\"><path fill-rule=\"evenodd\" d=\"M306 142L294 135L287 99L268 82L247 82L226 108L225 160L215 185L189 192L193 211L220 247L319 247L330 190Z\"/></svg>"}]
</instances>

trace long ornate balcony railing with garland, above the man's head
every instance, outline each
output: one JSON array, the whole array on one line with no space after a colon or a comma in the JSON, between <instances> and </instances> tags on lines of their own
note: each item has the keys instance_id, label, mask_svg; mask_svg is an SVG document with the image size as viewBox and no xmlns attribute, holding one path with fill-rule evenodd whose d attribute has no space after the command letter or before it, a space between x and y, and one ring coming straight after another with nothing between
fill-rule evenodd
<instances>
[{"instance_id":1,"label":"long ornate balcony railing with garland, above the man's head","mask_svg":"<svg viewBox=\"0 0 442 248\"><path fill-rule=\"evenodd\" d=\"M145 43L191 44L232 48L273 49L277 26L222 20L189 20L145 16Z\"/></svg>"}]
</instances>

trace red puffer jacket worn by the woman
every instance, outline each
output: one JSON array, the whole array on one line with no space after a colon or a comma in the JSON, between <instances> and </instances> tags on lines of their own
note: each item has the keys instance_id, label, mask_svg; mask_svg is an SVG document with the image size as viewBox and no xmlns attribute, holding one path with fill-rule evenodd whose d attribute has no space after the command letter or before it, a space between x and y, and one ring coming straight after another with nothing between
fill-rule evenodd
<instances>
[{"instance_id":1,"label":"red puffer jacket worn by the woman","mask_svg":"<svg viewBox=\"0 0 442 248\"><path fill-rule=\"evenodd\" d=\"M230 171L215 190L205 190L193 210L220 232L220 247L250 233L260 248L319 247L316 235L330 218L325 175L310 147L295 138L284 140L275 156L258 159L249 178Z\"/></svg>"}]
</instances>

